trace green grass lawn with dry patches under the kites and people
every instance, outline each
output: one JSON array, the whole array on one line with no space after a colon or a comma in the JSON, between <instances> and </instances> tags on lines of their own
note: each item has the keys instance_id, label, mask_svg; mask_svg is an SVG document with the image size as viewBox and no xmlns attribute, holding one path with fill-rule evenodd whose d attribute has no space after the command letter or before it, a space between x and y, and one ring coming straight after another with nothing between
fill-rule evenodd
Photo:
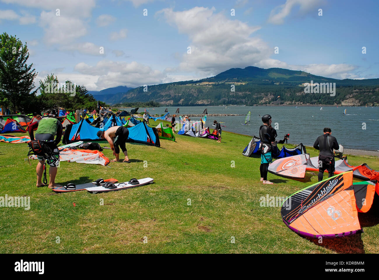
<instances>
[{"instance_id":1,"label":"green grass lawn with dry patches under the kites and people","mask_svg":"<svg viewBox=\"0 0 379 280\"><path fill-rule=\"evenodd\" d=\"M280 207L260 207L260 197L291 195L317 182L317 175L296 181L269 173L275 184L263 185L260 159L242 155L251 137L223 132L221 144L175 137L160 140L161 148L127 143L130 164L61 162L58 184L155 179L98 194L37 188L37 161L30 166L24 160L27 145L0 142L0 196L27 196L31 203L30 210L0 208L0 253L379 253L378 212L359 214L363 234L319 244L288 229ZM103 153L114 158L109 149ZM379 169L377 157L349 156L350 164L363 162Z\"/></svg>"}]
</instances>

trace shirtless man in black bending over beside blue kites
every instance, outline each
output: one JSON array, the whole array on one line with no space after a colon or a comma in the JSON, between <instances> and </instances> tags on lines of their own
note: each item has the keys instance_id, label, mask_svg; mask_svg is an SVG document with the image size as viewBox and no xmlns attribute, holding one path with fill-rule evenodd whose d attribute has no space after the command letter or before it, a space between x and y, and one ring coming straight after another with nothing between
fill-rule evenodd
<instances>
[{"instance_id":1,"label":"shirtless man in black bending over beside blue kites","mask_svg":"<svg viewBox=\"0 0 379 280\"><path fill-rule=\"evenodd\" d=\"M120 148L125 155L125 159L122 160L122 162L130 162L128 158L128 151L125 147L125 143L128 139L128 136L129 130L123 126L112 126L108 128L106 131L100 130L97 132L97 137L105 138L113 151L113 155L116 156L116 158L111 160L110 162L119 162Z\"/></svg>"}]
</instances>

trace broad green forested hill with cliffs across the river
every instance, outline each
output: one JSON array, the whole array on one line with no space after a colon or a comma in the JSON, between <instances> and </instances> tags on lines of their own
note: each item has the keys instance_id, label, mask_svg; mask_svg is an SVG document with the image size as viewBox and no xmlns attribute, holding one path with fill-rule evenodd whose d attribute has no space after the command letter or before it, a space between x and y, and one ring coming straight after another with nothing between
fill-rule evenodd
<instances>
[{"instance_id":1,"label":"broad green forested hill with cliffs across the river","mask_svg":"<svg viewBox=\"0 0 379 280\"><path fill-rule=\"evenodd\" d=\"M336 94L305 93L304 83L335 83ZM234 88L234 91L233 91ZM332 79L304 71L248 66L201 80L150 85L114 96L114 103L155 101L162 105L373 105L379 79ZM116 100L116 98L120 98Z\"/></svg>"}]
</instances>

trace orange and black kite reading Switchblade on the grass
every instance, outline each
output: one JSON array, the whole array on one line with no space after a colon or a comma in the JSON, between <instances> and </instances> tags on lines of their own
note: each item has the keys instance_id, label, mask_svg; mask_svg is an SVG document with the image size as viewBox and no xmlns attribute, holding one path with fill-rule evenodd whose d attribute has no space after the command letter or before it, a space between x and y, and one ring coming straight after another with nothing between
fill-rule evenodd
<instances>
[{"instance_id":1,"label":"orange and black kite reading Switchblade on the grass","mask_svg":"<svg viewBox=\"0 0 379 280\"><path fill-rule=\"evenodd\" d=\"M282 203L288 228L310 238L335 238L361 233L352 172L345 172L299 190Z\"/></svg>"}]
</instances>

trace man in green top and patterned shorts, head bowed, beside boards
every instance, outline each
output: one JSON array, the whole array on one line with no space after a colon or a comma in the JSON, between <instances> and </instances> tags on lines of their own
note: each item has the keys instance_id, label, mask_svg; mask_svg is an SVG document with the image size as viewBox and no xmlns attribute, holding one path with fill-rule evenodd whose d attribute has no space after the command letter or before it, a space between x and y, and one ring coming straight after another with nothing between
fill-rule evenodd
<instances>
[{"instance_id":1,"label":"man in green top and patterned shorts, head bowed, beside boards","mask_svg":"<svg viewBox=\"0 0 379 280\"><path fill-rule=\"evenodd\" d=\"M49 188L53 189L55 187L61 187L61 185L55 184L55 177L59 167L59 151L58 143L61 142L62 137L62 124L56 118L45 117L41 120L35 121L34 123L29 124L28 132L30 135L30 140L34 140L33 130L37 128L36 131L36 140L42 140L44 144L49 146L52 150L52 154L49 157L38 156L38 164L36 168L37 172L37 187L45 186L42 183L42 175L44 171L45 160L47 164L50 165L49 168ZM54 140L54 135L56 138Z\"/></svg>"}]
</instances>

